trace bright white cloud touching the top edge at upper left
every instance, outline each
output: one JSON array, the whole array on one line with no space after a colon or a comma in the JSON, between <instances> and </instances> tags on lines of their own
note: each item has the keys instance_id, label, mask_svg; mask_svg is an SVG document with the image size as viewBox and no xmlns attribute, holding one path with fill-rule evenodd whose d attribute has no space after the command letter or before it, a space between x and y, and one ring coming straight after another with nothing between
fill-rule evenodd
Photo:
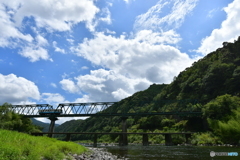
<instances>
[{"instance_id":1,"label":"bright white cloud touching the top edge at upper left","mask_svg":"<svg viewBox=\"0 0 240 160\"><path fill-rule=\"evenodd\" d=\"M38 27L56 31L70 30L79 22L91 22L99 12L92 0L81 0L81 3L78 0L3 0L2 3L15 12L13 19L19 26L25 17L33 17Z\"/></svg>"}]
</instances>

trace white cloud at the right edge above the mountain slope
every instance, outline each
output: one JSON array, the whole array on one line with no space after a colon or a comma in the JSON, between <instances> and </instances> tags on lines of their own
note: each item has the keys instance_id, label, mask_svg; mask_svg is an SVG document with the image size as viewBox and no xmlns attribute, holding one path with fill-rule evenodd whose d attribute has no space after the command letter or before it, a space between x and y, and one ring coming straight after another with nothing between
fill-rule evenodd
<instances>
[{"instance_id":1,"label":"white cloud at the right edge above the mountain slope","mask_svg":"<svg viewBox=\"0 0 240 160\"><path fill-rule=\"evenodd\" d=\"M240 36L240 0L234 0L227 7L224 8L224 11L227 14L226 20L221 24L221 27L214 29L210 36L205 37L201 46L198 48L198 52L206 55L217 48L222 46L222 43L233 42L238 36Z\"/></svg>"}]
</instances>

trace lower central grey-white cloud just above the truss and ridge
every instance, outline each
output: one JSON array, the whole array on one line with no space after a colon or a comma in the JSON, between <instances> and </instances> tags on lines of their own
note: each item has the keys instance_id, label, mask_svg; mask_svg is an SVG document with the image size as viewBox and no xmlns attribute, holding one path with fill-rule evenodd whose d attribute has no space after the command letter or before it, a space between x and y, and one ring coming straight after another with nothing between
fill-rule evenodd
<instances>
[{"instance_id":1,"label":"lower central grey-white cloud just above the truss and ridge","mask_svg":"<svg viewBox=\"0 0 240 160\"><path fill-rule=\"evenodd\" d=\"M70 80L63 79L62 81ZM105 69L92 70L90 74L75 77L75 82L68 83L69 87L63 89L70 92L70 86L74 85L82 92L87 93L82 98L76 99L77 103L118 101L130 96L136 89L143 90L151 84L146 79L131 79L117 74L113 70Z\"/></svg>"}]
</instances>

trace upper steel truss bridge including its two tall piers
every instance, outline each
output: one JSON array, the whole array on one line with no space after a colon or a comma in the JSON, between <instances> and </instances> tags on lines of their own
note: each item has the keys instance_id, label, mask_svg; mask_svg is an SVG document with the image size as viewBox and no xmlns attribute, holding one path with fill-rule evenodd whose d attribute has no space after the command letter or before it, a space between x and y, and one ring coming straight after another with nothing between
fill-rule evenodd
<instances>
[{"instance_id":1,"label":"upper steel truss bridge including its two tall piers","mask_svg":"<svg viewBox=\"0 0 240 160\"><path fill-rule=\"evenodd\" d=\"M167 103L174 104L176 109L174 111L168 111L167 109L160 110L158 109L159 107L155 103L155 108L153 107L150 109L144 109L144 111L141 110L140 108L142 107L141 105L133 106L131 107L131 110L129 110L128 106L122 107L122 104L120 104L119 102L91 102L91 103L60 103L57 107L53 107L52 105L49 104L12 105L11 110L14 111L15 113L22 114L29 118L47 117L48 119L50 119L51 123L48 132L49 137L52 137L52 135L55 134L54 126L55 121L58 120L58 117L120 116L122 119L122 133L123 133L121 134L121 138L123 144L127 145L127 134L131 134L127 133L126 126L126 120L129 116L202 115L202 112L199 110L186 110L186 109L183 110L184 107L181 107L181 105L182 106L186 105L186 103L196 104L196 101L191 102L179 100L164 101L164 103L161 103L161 106L164 106ZM97 135L96 133L92 134Z\"/></svg>"}]
</instances>

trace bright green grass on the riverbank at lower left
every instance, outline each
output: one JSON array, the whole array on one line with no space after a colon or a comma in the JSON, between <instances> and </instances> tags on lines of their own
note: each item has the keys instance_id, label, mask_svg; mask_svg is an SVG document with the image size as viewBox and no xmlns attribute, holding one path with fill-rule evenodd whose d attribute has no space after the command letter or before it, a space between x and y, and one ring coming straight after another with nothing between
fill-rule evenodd
<instances>
[{"instance_id":1,"label":"bright green grass on the riverbank at lower left","mask_svg":"<svg viewBox=\"0 0 240 160\"><path fill-rule=\"evenodd\" d=\"M48 137L35 137L0 129L0 160L62 160L69 153L81 154L87 148L74 142Z\"/></svg>"}]
</instances>

